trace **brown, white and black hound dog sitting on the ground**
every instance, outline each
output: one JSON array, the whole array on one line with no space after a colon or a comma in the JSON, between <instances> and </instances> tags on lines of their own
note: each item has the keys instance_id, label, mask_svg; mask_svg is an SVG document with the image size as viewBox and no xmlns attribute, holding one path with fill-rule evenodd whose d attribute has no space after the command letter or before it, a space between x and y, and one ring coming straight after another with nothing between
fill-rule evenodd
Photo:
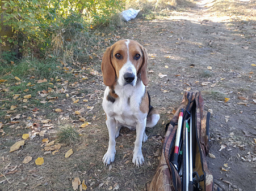
<instances>
[{"instance_id":1,"label":"brown, white and black hound dog sitting on the ground","mask_svg":"<svg viewBox=\"0 0 256 191\"><path fill-rule=\"evenodd\" d=\"M146 91L148 53L138 42L120 40L107 48L102 59L103 82L107 86L102 102L109 134L108 150L103 157L107 166L114 162L115 138L121 127L136 129L132 162L144 163L142 141L146 141L145 128L154 127L160 119L158 111L150 105Z\"/></svg>"}]
</instances>

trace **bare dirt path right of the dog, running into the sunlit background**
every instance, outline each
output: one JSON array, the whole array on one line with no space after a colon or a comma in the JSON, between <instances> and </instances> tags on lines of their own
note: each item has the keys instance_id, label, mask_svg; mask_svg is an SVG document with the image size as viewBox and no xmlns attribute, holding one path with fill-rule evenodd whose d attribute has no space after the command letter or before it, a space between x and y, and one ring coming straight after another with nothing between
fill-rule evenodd
<instances>
[{"instance_id":1,"label":"bare dirt path right of the dog, running into the sunlit background","mask_svg":"<svg viewBox=\"0 0 256 191\"><path fill-rule=\"evenodd\" d=\"M255 190L255 19L213 14L206 3L132 21L125 38L148 50L149 91L161 108L160 123L171 117L167 111L178 106L183 90L200 90L212 112L210 153L216 158L207 159L215 183L223 190Z\"/></svg>"}]
</instances>

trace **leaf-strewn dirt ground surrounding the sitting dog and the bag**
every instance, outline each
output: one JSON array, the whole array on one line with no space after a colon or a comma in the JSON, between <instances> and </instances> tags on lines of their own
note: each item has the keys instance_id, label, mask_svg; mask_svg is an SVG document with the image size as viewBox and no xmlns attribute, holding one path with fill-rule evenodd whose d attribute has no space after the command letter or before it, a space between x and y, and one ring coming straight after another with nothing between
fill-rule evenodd
<instances>
[{"instance_id":1,"label":"leaf-strewn dirt ground surrounding the sitting dog and the bag","mask_svg":"<svg viewBox=\"0 0 256 191\"><path fill-rule=\"evenodd\" d=\"M161 118L156 127L146 131L149 139L142 144L144 166L132 164L136 133L125 128L116 139L115 162L103 166L108 133L101 106L105 86L98 62L93 69L81 71L89 80L63 83L69 98L62 97L39 111L24 112L23 127L5 125L7 135L0 139L0 190L73 190L75 177L85 180L88 190L145 190L160 159L165 124L181 102L184 90L200 90L205 110L211 112L212 155L207 162L215 184L222 190L255 190L256 7L250 7L249 1L238 3L248 5L248 14L216 14L211 11L211 3L199 1L182 11L166 11L161 19L145 20L139 16L124 23L117 32L117 40L136 40L149 54L148 90ZM80 101L74 103L72 98ZM82 102L83 99L86 100ZM56 108L63 112L55 112ZM75 111L80 111L81 116ZM78 128L84 121L81 118L90 124ZM22 149L9 153L11 145L30 131L26 128L28 123L43 125L47 119L52 125L44 126L51 128L43 136L37 134L26 140ZM5 119L1 121L6 124ZM81 142L61 145L55 155L45 154L41 141L56 140L57 128L64 124L78 129ZM73 154L65 158L71 148ZM31 162L22 163L28 155ZM37 157L43 157L44 164L37 166Z\"/></svg>"}]
</instances>

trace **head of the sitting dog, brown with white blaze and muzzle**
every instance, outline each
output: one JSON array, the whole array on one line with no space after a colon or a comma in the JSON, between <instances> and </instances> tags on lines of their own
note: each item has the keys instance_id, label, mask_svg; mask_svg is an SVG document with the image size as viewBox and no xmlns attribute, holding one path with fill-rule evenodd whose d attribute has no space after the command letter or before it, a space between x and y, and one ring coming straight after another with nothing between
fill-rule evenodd
<instances>
[{"instance_id":1,"label":"head of the sitting dog, brown with white blaze and muzzle","mask_svg":"<svg viewBox=\"0 0 256 191\"><path fill-rule=\"evenodd\" d=\"M120 40L107 48L102 59L103 81L107 86L115 81L121 85L136 85L138 79L148 84L147 69L148 53L138 42Z\"/></svg>"}]
</instances>

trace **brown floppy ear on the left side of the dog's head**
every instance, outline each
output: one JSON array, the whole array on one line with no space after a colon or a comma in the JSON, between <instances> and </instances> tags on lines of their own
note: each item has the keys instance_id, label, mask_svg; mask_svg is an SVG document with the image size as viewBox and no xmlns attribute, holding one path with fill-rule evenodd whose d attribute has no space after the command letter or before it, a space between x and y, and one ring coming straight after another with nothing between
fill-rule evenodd
<instances>
[{"instance_id":1,"label":"brown floppy ear on the left side of the dog's head","mask_svg":"<svg viewBox=\"0 0 256 191\"><path fill-rule=\"evenodd\" d=\"M102 59L102 74L103 82L106 86L111 86L115 83L116 72L111 62L112 46L108 47Z\"/></svg>"}]
</instances>

